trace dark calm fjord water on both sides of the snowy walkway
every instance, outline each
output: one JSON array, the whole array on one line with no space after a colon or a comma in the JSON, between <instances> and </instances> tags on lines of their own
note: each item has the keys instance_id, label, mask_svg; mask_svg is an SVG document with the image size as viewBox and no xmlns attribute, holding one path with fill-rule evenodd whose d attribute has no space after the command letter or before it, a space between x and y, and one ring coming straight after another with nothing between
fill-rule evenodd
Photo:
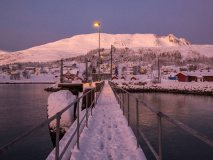
<instances>
[{"instance_id":1,"label":"dark calm fjord water on both sides of the snowy walkway","mask_svg":"<svg viewBox=\"0 0 213 160\"><path fill-rule=\"evenodd\" d=\"M41 84L0 85L0 146L32 129L47 119L48 92ZM173 119L213 139L213 97L169 93L133 93L148 105ZM127 104L127 97L125 97ZM136 117L135 100L130 97L130 112ZM140 127L158 152L157 117L149 109L139 104ZM126 113L125 113L126 114ZM162 119L163 159L166 160L211 160L213 148L189 135L179 127ZM131 126L133 121L131 121ZM135 129L133 129L135 132ZM142 137L142 147L147 159L154 160ZM48 126L32 134L22 144L11 149L0 159L23 160L45 159L53 145Z\"/></svg>"}]
</instances>

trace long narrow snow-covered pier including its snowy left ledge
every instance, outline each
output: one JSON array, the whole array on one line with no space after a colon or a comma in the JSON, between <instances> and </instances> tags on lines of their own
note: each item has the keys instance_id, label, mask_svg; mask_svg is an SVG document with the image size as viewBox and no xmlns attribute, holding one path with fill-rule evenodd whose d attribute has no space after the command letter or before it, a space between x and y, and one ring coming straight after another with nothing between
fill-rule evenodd
<instances>
[{"instance_id":1,"label":"long narrow snow-covered pier including its snowy left ledge","mask_svg":"<svg viewBox=\"0 0 213 160\"><path fill-rule=\"evenodd\" d=\"M103 86L104 83L100 85ZM57 158L57 154L60 155L58 159L63 160L146 159L142 149L137 147L136 137L128 126L111 87L108 83L103 89L102 86L97 86L101 87L100 92L94 95L95 108L81 111L79 120L72 124L60 140L58 151L56 147L47 160ZM97 91L97 88L93 89ZM84 118L90 112L91 116L87 116L87 121ZM77 130L79 133L75 134Z\"/></svg>"}]
</instances>

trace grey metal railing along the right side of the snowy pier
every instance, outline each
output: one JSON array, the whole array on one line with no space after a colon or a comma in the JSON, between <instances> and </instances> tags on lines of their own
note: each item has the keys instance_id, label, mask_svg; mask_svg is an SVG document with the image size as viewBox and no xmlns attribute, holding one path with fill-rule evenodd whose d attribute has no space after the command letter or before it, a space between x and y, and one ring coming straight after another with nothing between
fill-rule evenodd
<instances>
[{"instance_id":1,"label":"grey metal railing along the right side of the snowy pier","mask_svg":"<svg viewBox=\"0 0 213 160\"><path fill-rule=\"evenodd\" d=\"M127 120L128 120L128 126L130 126L130 118L132 121L136 124L136 138L137 138L137 147L139 147L139 133L143 137L144 141L148 145L149 149L155 156L157 160L162 160L162 121L161 118L164 118L165 120L175 124L176 126L180 127L184 131L188 132L189 134L193 135L194 137L200 139L201 141L205 142L209 146L213 147L213 141L210 140L207 136L199 133L198 131L190 128L189 126L183 124L182 122L172 119L169 116L163 114L162 112L150 107L146 103L144 103L142 100L136 98L123 88L117 87L113 82L109 81L109 85L111 86L115 97L120 105L120 108L123 109L123 115L124 115L124 109L127 111ZM118 92L121 93L120 96L118 95ZM128 95L127 98L127 105L124 104L124 93ZM130 114L130 104L129 104L129 97L133 97L136 100L136 120L133 118L133 116ZM158 119L158 153L155 151L154 147L151 145L145 134L142 132L141 128L139 127L139 108L138 108L138 103L142 104L146 108L150 109L153 113L157 115ZM122 108L123 106L123 108Z\"/></svg>"}]
</instances>

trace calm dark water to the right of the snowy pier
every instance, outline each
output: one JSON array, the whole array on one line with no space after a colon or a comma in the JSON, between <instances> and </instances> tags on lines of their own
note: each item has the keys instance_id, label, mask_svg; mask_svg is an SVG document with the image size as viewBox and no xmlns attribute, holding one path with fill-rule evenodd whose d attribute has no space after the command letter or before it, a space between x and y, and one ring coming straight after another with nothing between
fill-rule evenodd
<instances>
[{"instance_id":1,"label":"calm dark water to the right of the snowy pier","mask_svg":"<svg viewBox=\"0 0 213 160\"><path fill-rule=\"evenodd\" d=\"M213 140L213 97L167 93L134 93L148 105L173 119L179 120ZM127 98L125 98L125 102ZM135 100L130 98L131 114L135 116ZM149 109L139 105L140 127L158 152L157 117ZM162 119L163 159L212 160L213 148L175 125ZM133 123L131 125L134 128ZM134 130L135 132L135 130ZM155 159L143 139L140 145L148 159Z\"/></svg>"}]
</instances>

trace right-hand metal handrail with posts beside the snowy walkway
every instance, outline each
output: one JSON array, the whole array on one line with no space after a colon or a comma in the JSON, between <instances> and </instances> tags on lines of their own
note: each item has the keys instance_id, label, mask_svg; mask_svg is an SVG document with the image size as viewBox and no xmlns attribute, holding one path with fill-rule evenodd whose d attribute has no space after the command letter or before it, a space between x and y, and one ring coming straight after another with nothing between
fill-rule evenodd
<instances>
[{"instance_id":1,"label":"right-hand metal handrail with posts beside the snowy walkway","mask_svg":"<svg viewBox=\"0 0 213 160\"><path fill-rule=\"evenodd\" d=\"M119 98L119 96L117 95L117 92L116 92L116 89L117 90L121 90L122 93L126 93L128 94L128 100L129 100L129 96L133 97L136 102L138 103L141 103L142 105L144 105L146 108L149 108L153 113L155 113L158 117L158 129L159 129L159 135L158 135L158 138L159 138L159 155L155 152L154 148L151 146L150 142L148 141L148 139L146 138L145 134L141 131L141 129L138 127L138 122L137 120L134 120L134 123L136 124L137 126L137 131L141 134L141 136L143 137L143 139L145 140L146 144L148 145L149 149L152 151L152 153L154 154L155 158L156 159L159 159L159 160L162 160L162 127L161 127L161 118L164 118L166 119L167 121L169 121L170 123L173 123L175 125L177 125L178 127L180 127L181 129L183 129L184 131L188 132L189 134L193 135L194 137L200 139L201 141L205 142L206 144L208 144L209 146L213 147L213 141L211 139L209 139L207 136L205 136L204 134L201 134L199 133L198 131L190 128L189 126L183 124L182 122L178 121L178 120L175 120L175 119L172 119L170 118L169 116L163 114L162 112L150 107L149 105L147 105L146 103L144 103L142 100L136 98L134 95L130 94L129 92L127 92L126 90L124 90L123 88L120 88L120 87L117 87L115 86L115 84L111 81L109 81L109 84L116 96L116 99L118 101L118 103L120 104L120 107L121 107L121 104L123 105L123 109L125 107L125 109L127 108L126 105L124 104L124 102L122 102L121 98ZM137 111L138 111L138 105L136 106L137 107ZM129 108L129 104L128 104L128 108ZM129 113L129 111L127 111L128 115L131 116L131 114ZM137 116L138 116L138 112L136 113ZM132 117L132 116L131 116ZM128 118L128 124L129 124L129 118ZM137 135L137 141L139 141L138 139L138 135Z\"/></svg>"}]
</instances>

